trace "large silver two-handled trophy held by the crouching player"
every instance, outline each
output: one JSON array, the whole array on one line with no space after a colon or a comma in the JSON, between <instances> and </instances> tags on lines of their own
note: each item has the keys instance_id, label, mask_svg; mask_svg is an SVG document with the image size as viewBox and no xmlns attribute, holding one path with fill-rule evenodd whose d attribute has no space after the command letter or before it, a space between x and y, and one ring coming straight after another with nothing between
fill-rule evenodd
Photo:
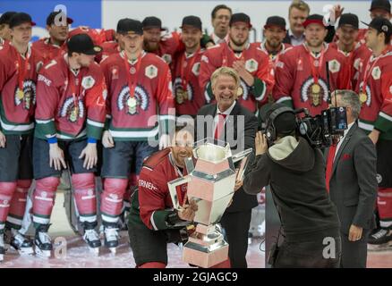
<instances>
[{"instance_id":1,"label":"large silver two-handled trophy held by the crouching player","mask_svg":"<svg viewBox=\"0 0 392 286\"><path fill-rule=\"evenodd\" d=\"M176 187L188 183L187 196L196 201L198 211L194 223L196 230L183 246L183 261L209 268L226 261L228 243L218 224L234 195L235 180L242 180L251 148L232 156L229 144L215 145L212 139L195 143L193 156L186 160L188 175L169 181L168 188L175 209L181 211ZM234 163L241 161L239 168Z\"/></svg>"}]
</instances>

